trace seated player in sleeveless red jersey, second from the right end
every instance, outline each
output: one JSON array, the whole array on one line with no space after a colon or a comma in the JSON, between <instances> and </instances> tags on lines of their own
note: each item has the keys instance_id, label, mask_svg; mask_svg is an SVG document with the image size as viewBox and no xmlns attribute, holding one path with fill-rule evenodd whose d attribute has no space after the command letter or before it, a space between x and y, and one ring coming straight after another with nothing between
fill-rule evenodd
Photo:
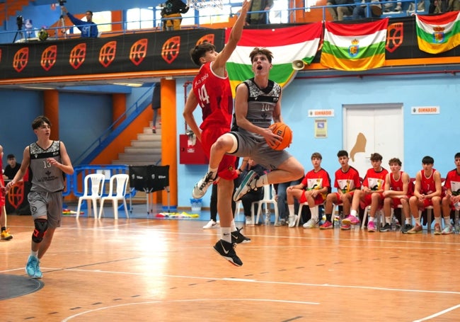
<instances>
[{"instance_id":1,"label":"seated player in sleeveless red jersey, second from the right end","mask_svg":"<svg viewBox=\"0 0 460 322\"><path fill-rule=\"evenodd\" d=\"M423 168L415 176L414 195L409 199L410 212L415 219L415 226L408 231L408 234L422 232L418 209L423 210L428 206L433 206L433 213L435 214L435 235L441 234L441 174L433 168L434 165L435 159L431 156L425 156L422 159Z\"/></svg>"}]
</instances>

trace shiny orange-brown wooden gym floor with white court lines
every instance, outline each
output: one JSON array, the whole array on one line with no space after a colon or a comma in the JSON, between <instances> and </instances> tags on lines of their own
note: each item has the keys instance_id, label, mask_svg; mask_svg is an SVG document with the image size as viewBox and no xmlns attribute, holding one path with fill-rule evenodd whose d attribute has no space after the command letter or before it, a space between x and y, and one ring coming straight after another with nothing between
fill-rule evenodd
<instances>
[{"instance_id":1,"label":"shiny orange-brown wooden gym floor with white court lines","mask_svg":"<svg viewBox=\"0 0 460 322\"><path fill-rule=\"evenodd\" d=\"M63 217L41 288L1 301L1 320L460 321L459 235L246 227L237 268L205 219ZM32 219L8 227L0 276L28 280Z\"/></svg>"}]
</instances>

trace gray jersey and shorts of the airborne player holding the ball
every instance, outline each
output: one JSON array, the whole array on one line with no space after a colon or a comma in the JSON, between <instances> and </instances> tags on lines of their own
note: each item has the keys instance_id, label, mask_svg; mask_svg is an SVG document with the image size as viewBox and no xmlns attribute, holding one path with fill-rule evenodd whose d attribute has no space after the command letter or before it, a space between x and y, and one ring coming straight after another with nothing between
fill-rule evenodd
<instances>
[{"instance_id":1,"label":"gray jersey and shorts of the airborne player holding the ball","mask_svg":"<svg viewBox=\"0 0 460 322\"><path fill-rule=\"evenodd\" d=\"M238 86L248 87L246 119L258 127L264 129L270 127L273 109L280 100L281 86L269 80L267 88L260 89L254 83L254 79L243 81ZM262 135L246 131L237 124L234 124L230 133L234 134L238 141L238 148L232 155L249 156L255 163L270 170L275 170L291 156L287 151L276 151L270 148Z\"/></svg>"}]
</instances>

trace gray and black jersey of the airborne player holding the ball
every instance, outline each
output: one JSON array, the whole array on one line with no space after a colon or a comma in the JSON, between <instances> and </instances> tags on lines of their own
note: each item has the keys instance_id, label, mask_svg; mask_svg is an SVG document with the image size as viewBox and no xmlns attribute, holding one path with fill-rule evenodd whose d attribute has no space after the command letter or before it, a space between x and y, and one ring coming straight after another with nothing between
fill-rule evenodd
<instances>
[{"instance_id":1,"label":"gray and black jersey of the airborne player holding the ball","mask_svg":"<svg viewBox=\"0 0 460 322\"><path fill-rule=\"evenodd\" d=\"M272 124L273 110L280 100L281 86L274 81L269 80L266 88L260 89L255 83L254 79L243 81L238 86L246 85L248 87L248 111L246 119L253 123L253 125L262 127L264 129L270 127ZM241 127L238 127L238 132L243 135L254 137L255 139L263 139L260 134L248 132Z\"/></svg>"}]
</instances>

